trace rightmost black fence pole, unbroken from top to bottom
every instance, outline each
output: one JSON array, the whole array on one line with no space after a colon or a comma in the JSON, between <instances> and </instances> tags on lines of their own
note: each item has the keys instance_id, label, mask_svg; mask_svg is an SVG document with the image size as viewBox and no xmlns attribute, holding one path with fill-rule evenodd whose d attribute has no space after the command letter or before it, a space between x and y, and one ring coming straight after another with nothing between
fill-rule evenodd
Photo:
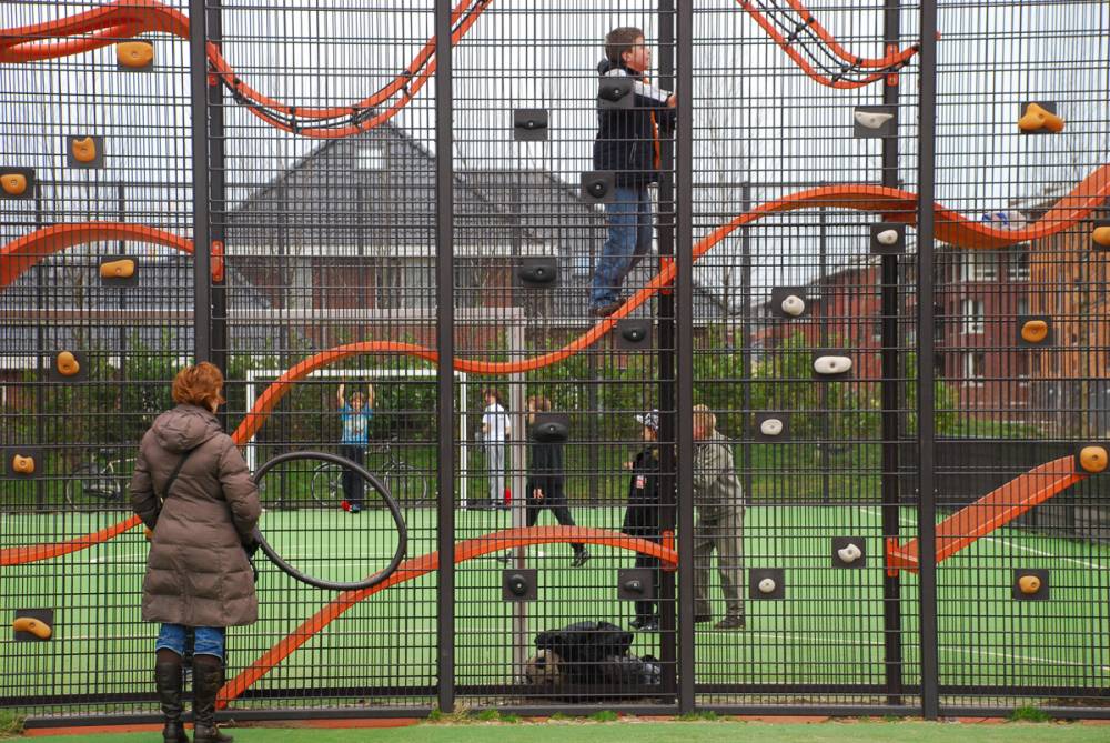
<instances>
[{"instance_id":1,"label":"rightmost black fence pole, unbroken from top to bottom","mask_svg":"<svg viewBox=\"0 0 1110 743\"><path fill-rule=\"evenodd\" d=\"M936 720L940 714L937 662L937 498L934 473L935 421L934 357L934 231L936 202L937 122L937 3L921 3L921 51L918 56L917 142L917 436L918 436L918 566L921 626L921 715Z\"/></svg>"}]
</instances>

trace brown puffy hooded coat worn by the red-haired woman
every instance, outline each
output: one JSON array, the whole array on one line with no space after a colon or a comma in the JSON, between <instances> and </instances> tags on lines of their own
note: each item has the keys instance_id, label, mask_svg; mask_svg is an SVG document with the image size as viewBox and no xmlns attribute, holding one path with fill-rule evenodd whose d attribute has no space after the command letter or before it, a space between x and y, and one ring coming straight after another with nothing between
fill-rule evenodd
<instances>
[{"instance_id":1,"label":"brown puffy hooded coat worn by the red-haired woman","mask_svg":"<svg viewBox=\"0 0 1110 743\"><path fill-rule=\"evenodd\" d=\"M155 490L165 495L164 503ZM178 405L158 416L139 446L131 508L154 532L142 586L143 620L233 626L258 619L243 544L251 541L262 509L246 462L215 415Z\"/></svg>"}]
</instances>

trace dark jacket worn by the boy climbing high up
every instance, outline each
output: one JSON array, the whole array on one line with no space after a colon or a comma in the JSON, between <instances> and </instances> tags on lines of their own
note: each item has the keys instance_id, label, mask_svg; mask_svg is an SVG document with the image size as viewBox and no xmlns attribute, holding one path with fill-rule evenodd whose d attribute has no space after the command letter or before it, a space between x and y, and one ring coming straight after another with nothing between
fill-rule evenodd
<instances>
[{"instance_id":1,"label":"dark jacket worn by the boy climbing high up","mask_svg":"<svg viewBox=\"0 0 1110 743\"><path fill-rule=\"evenodd\" d=\"M636 79L630 109L597 108L597 138L594 140L594 170L616 173L616 184L646 185L659 180L655 167L655 123L659 137L675 130L675 109L667 106L670 93L644 82L644 76L604 59L597 64L601 77L628 76Z\"/></svg>"}]
</instances>

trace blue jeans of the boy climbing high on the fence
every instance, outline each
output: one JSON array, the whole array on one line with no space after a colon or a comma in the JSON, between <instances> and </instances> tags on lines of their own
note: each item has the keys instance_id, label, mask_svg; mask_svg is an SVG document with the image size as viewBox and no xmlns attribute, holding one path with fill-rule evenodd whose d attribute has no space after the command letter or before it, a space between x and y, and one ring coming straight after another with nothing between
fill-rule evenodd
<instances>
[{"instance_id":1,"label":"blue jeans of the boy climbing high on the fence","mask_svg":"<svg viewBox=\"0 0 1110 743\"><path fill-rule=\"evenodd\" d=\"M620 297L620 284L652 250L652 200L646 185L618 185L612 203L605 204L609 233L602 257L594 269L589 293L593 307L608 304Z\"/></svg>"}]
</instances>

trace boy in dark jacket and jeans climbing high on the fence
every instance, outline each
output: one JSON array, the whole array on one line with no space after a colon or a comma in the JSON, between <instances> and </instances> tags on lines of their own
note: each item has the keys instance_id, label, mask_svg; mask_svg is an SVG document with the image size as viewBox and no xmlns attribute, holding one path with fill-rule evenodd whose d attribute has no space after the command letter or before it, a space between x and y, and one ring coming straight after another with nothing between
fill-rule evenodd
<instances>
[{"instance_id":1,"label":"boy in dark jacket and jeans climbing high on the fence","mask_svg":"<svg viewBox=\"0 0 1110 743\"><path fill-rule=\"evenodd\" d=\"M652 53L638 28L622 27L605 37L603 78L633 78L632 108L598 108L594 170L616 178L612 202L605 204L608 235L594 269L589 311L608 317L620 309L625 278L652 249L654 235L650 183L659 180L659 137L675 128L675 97L652 84L645 72Z\"/></svg>"}]
</instances>

